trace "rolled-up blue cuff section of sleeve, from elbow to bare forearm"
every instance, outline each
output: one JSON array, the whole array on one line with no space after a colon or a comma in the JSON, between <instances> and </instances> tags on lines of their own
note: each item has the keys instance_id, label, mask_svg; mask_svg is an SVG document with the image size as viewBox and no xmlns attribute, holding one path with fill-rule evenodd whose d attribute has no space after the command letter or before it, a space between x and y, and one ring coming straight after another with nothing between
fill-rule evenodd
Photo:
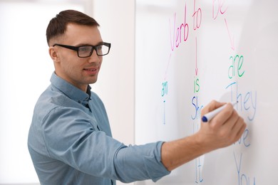
<instances>
[{"instance_id":1,"label":"rolled-up blue cuff section of sleeve, from elbow to bare forearm","mask_svg":"<svg viewBox=\"0 0 278 185\"><path fill-rule=\"evenodd\" d=\"M119 180L127 183L145 179L158 181L170 174L161 162L162 144L163 142L154 142L120 149L115 156Z\"/></svg>"}]
</instances>

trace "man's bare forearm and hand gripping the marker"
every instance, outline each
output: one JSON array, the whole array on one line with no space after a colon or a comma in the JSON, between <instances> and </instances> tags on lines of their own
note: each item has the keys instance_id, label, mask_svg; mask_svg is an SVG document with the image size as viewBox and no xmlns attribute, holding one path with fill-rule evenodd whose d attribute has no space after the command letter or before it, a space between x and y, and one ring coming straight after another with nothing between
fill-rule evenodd
<instances>
[{"instance_id":1,"label":"man's bare forearm and hand gripping the marker","mask_svg":"<svg viewBox=\"0 0 278 185\"><path fill-rule=\"evenodd\" d=\"M222 105L225 103L212 101L202 109L201 115ZM165 142L161 151L162 162L166 169L171 171L202 154L237 142L245 128L244 120L229 103L210 122L202 122L197 133L173 142Z\"/></svg>"}]
</instances>

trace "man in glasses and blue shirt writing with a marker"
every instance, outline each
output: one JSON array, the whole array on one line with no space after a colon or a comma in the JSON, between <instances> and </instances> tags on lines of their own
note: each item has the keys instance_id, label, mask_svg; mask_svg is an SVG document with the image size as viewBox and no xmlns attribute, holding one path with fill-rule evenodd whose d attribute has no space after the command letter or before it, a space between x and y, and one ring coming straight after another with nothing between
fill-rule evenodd
<instances>
[{"instance_id":1,"label":"man in glasses and blue shirt writing with a marker","mask_svg":"<svg viewBox=\"0 0 278 185\"><path fill-rule=\"evenodd\" d=\"M240 139L246 124L230 104L190 137L129 147L113 139L103 102L89 86L110 51L98 26L73 10L61 11L48 24L55 72L36 103L28 139L41 184L158 181L177 166ZM212 101L202 115L221 105Z\"/></svg>"}]
</instances>

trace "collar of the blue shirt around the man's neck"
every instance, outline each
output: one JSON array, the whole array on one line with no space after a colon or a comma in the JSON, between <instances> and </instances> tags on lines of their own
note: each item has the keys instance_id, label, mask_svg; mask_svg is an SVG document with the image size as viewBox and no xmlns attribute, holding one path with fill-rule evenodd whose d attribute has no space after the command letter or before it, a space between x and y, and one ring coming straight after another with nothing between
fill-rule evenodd
<instances>
[{"instance_id":1,"label":"collar of the blue shirt around the man's neck","mask_svg":"<svg viewBox=\"0 0 278 185\"><path fill-rule=\"evenodd\" d=\"M88 105L88 101L91 100L90 85L88 85L87 93L85 93L83 90L80 90L76 88L76 86L71 85L71 83L68 83L66 80L63 80L63 78L58 77L55 72L51 75L50 81L55 88L76 102Z\"/></svg>"}]
</instances>

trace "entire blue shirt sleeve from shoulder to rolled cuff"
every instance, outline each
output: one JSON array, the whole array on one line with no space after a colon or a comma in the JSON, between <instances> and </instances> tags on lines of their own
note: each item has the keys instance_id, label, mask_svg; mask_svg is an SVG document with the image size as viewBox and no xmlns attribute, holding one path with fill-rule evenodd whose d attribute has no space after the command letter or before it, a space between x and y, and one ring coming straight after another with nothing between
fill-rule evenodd
<instances>
[{"instance_id":1,"label":"entire blue shirt sleeve from shoulder to rolled cuff","mask_svg":"<svg viewBox=\"0 0 278 185\"><path fill-rule=\"evenodd\" d=\"M41 125L49 157L78 171L123 182L170 174L161 162L163 142L125 146L98 130L85 112L66 107L51 110Z\"/></svg>"}]
</instances>

